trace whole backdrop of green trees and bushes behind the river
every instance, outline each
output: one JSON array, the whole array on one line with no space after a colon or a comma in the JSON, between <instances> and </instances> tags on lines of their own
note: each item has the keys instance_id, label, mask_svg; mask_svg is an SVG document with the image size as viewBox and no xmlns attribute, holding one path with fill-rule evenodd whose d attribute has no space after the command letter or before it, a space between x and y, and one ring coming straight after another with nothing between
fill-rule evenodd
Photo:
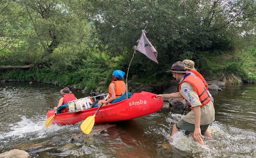
<instances>
[{"instance_id":1,"label":"whole backdrop of green trees and bushes behind the river","mask_svg":"<svg viewBox=\"0 0 256 158\"><path fill-rule=\"evenodd\" d=\"M159 64L137 51L129 79L169 80L183 59L210 78L256 78L255 0L3 0L0 19L0 66L34 64L2 79L107 88L114 70L127 73L145 27Z\"/></svg>"}]
</instances>

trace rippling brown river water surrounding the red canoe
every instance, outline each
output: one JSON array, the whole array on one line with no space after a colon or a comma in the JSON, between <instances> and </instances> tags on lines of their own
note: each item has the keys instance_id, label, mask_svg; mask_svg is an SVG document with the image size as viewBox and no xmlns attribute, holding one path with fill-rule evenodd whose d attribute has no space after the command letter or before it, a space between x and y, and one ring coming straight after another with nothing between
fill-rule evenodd
<instances>
[{"instance_id":1,"label":"rippling brown river water surrounding the red canoe","mask_svg":"<svg viewBox=\"0 0 256 158\"><path fill-rule=\"evenodd\" d=\"M167 108L85 136L75 125L45 127L46 113L61 98L61 87L0 83L0 153L20 149L38 158L255 158L256 85L226 86L214 97L213 139L205 146L182 131L170 142L181 112ZM86 95L74 91L76 98ZM76 138L76 139L72 139Z\"/></svg>"}]
</instances>

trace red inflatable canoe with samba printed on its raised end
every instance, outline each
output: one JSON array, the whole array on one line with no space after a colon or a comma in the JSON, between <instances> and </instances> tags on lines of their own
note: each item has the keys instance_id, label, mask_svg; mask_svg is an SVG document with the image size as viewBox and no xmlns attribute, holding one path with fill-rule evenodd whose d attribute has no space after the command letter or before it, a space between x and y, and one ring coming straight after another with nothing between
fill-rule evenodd
<instances>
[{"instance_id":1,"label":"red inflatable canoe with samba printed on its raised end","mask_svg":"<svg viewBox=\"0 0 256 158\"><path fill-rule=\"evenodd\" d=\"M130 120L157 112L162 108L163 99L155 98L155 96L154 93L142 91L134 93L130 99L102 106L95 116L95 123ZM93 116L97 109L98 107L74 113L59 113L55 115L52 123L75 124ZM53 114L53 110L49 110L47 118Z\"/></svg>"}]
</instances>

